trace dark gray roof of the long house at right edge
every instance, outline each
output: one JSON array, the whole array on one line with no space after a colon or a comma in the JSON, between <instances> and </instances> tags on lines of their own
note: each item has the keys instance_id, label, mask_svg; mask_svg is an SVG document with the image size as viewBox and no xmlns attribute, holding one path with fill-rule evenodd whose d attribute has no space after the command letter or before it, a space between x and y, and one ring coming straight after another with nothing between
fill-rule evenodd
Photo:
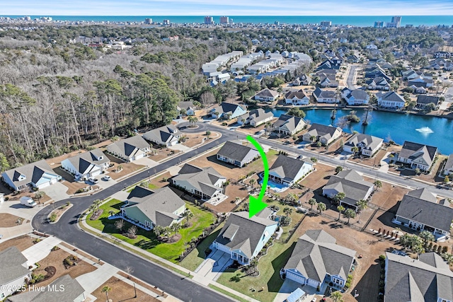
<instances>
[{"instance_id":1,"label":"dark gray roof of the long house at right edge","mask_svg":"<svg viewBox=\"0 0 453 302\"><path fill-rule=\"evenodd\" d=\"M406 194L401 200L396 215L432 228L449 231L453 218L453 208Z\"/></svg>"}]
</instances>

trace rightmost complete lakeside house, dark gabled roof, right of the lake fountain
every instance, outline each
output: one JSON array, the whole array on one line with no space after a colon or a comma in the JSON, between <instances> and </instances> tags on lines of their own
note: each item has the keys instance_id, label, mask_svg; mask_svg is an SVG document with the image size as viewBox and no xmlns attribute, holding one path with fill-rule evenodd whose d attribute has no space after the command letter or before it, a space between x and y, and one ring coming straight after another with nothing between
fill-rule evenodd
<instances>
[{"instance_id":1,"label":"rightmost complete lakeside house, dark gabled roof, right of the lake fountain","mask_svg":"<svg viewBox=\"0 0 453 302\"><path fill-rule=\"evenodd\" d=\"M437 156L437 147L428 146L412 141L404 141L403 148L398 153L400 163L408 163L411 168L420 170L429 170L434 159Z\"/></svg>"}]
</instances>

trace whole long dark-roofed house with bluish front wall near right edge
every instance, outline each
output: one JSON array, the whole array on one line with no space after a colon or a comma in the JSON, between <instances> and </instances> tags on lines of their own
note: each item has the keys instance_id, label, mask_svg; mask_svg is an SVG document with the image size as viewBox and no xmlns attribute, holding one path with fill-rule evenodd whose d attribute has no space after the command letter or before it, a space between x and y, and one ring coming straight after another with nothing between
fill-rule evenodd
<instances>
[{"instance_id":1,"label":"whole long dark-roofed house with bluish front wall near right edge","mask_svg":"<svg viewBox=\"0 0 453 302\"><path fill-rule=\"evenodd\" d=\"M453 208L447 200L437 203L437 198L427 189L418 189L404 195L393 222L413 228L427 230L436 238L445 239L452 227Z\"/></svg>"}]
</instances>

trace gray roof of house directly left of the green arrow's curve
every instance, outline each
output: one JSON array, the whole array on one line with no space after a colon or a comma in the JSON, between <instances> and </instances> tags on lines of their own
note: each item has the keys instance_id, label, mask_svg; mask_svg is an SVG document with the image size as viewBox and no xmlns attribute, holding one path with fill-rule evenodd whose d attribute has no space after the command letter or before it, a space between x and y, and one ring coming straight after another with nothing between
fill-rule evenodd
<instances>
[{"instance_id":1,"label":"gray roof of house directly left of the green arrow's curve","mask_svg":"<svg viewBox=\"0 0 453 302\"><path fill-rule=\"evenodd\" d=\"M200 192L212 196L218 190L222 190L222 188L214 186L214 183L221 178L224 178L224 176L220 175L212 167L198 168L195 165L186 163L179 171L179 174L173 177L173 180L185 180Z\"/></svg>"}]
</instances>

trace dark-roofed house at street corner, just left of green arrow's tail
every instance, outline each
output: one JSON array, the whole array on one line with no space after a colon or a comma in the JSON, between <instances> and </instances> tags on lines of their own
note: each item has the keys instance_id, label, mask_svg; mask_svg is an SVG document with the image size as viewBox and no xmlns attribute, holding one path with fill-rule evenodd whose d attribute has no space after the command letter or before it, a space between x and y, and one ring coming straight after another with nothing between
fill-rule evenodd
<instances>
[{"instance_id":1,"label":"dark-roofed house at street corner, just left of green arrow's tail","mask_svg":"<svg viewBox=\"0 0 453 302\"><path fill-rule=\"evenodd\" d=\"M217 152L217 159L242 168L260 157L260 153L251 145L243 145L241 141L226 141Z\"/></svg>"}]
</instances>

